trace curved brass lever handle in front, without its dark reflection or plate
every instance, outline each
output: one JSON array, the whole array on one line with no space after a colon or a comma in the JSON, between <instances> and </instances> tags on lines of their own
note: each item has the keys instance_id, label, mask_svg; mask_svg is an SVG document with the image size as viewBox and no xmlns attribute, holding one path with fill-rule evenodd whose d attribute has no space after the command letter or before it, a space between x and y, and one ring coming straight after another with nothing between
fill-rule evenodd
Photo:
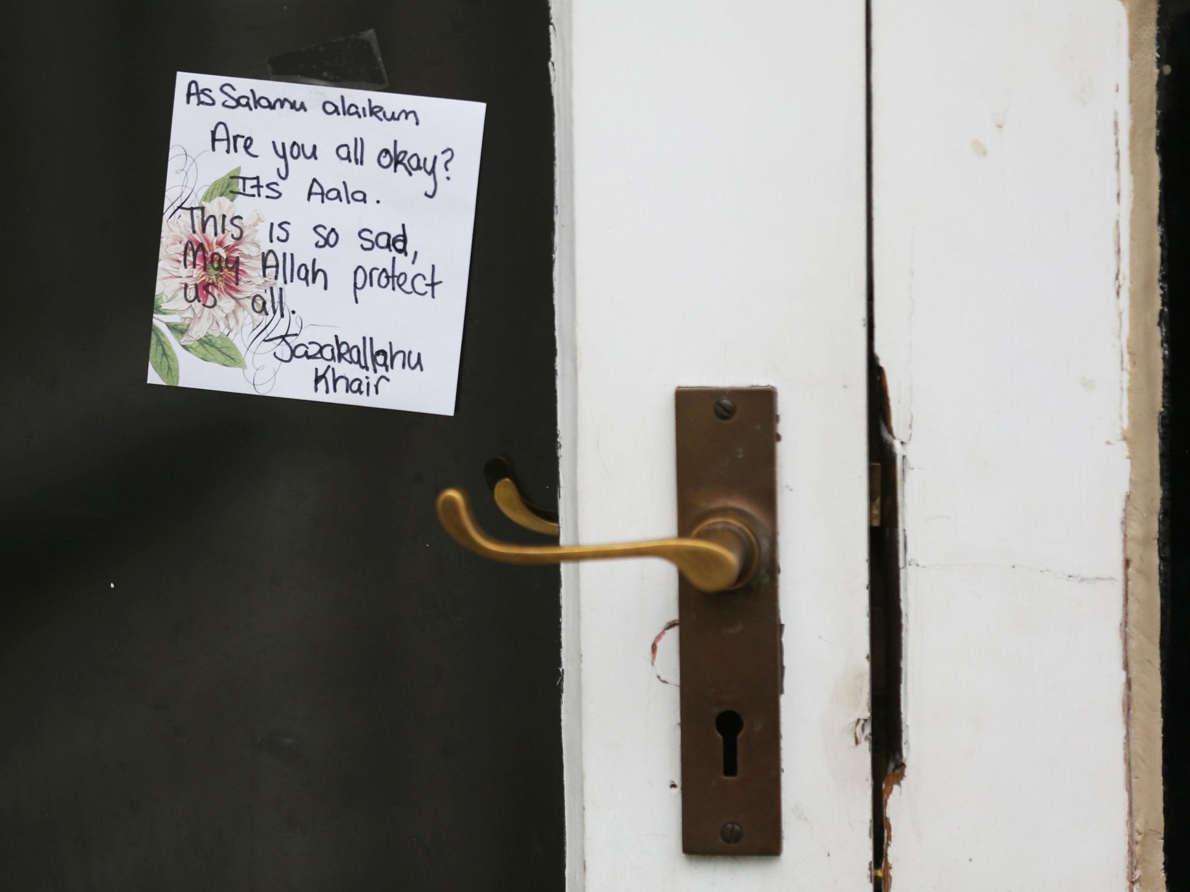
<instances>
[{"instance_id":1,"label":"curved brass lever handle in front, without its dark reflection or plate","mask_svg":"<svg viewBox=\"0 0 1190 892\"><path fill-rule=\"evenodd\" d=\"M749 527L724 514L699 524L693 535L619 545L518 545L491 539L480 529L471 500L461 489L438 496L438 520L456 542L481 558L503 564L560 564L601 558L664 558L704 592L745 585L759 564L759 546Z\"/></svg>"}]
</instances>

